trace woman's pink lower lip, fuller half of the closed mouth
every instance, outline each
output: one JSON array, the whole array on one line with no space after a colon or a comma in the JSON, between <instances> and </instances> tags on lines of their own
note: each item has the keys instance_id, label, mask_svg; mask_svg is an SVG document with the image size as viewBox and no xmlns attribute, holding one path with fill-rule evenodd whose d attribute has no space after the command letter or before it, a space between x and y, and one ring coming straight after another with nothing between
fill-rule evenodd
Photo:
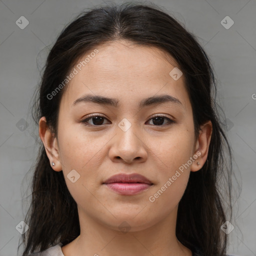
<instances>
[{"instance_id":1,"label":"woman's pink lower lip, fuller half of the closed mouth","mask_svg":"<svg viewBox=\"0 0 256 256\"><path fill-rule=\"evenodd\" d=\"M109 183L105 185L119 194L126 195L137 194L151 186L146 183Z\"/></svg>"}]
</instances>

